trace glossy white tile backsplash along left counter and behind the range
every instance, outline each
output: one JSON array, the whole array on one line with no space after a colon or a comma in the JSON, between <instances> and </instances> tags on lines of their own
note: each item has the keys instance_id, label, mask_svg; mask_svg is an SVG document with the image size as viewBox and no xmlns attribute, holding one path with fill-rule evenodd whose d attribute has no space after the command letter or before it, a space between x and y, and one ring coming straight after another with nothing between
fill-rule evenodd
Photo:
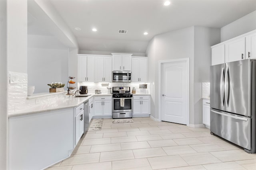
<instances>
[{"instance_id":1,"label":"glossy white tile backsplash along left counter and behind the range","mask_svg":"<svg viewBox=\"0 0 256 170\"><path fill-rule=\"evenodd\" d=\"M16 84L8 83L8 113L12 113L15 111L20 111L27 109L28 107L35 107L38 105L55 104L60 98L67 98L66 91L60 93L52 93L49 96L33 96L32 98L28 97L28 74L18 73L18 72L9 72L12 75L16 76ZM10 75L9 74L9 75ZM10 78L10 76L9 76ZM150 94L150 83L148 84L147 93ZM107 92L107 87L132 87L136 88L136 93L140 93L139 90L140 83L122 83L122 82L114 82L108 84L101 83L78 83L79 86L88 86L88 93L94 94L95 90L102 90L102 93ZM46 105L47 106L47 105Z\"/></svg>"}]
</instances>

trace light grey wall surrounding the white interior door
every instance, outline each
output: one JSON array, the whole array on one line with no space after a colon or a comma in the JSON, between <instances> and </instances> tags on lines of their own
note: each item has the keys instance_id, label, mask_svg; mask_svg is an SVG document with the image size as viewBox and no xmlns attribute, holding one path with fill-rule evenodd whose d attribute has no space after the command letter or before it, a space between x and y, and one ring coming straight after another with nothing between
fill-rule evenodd
<instances>
[{"instance_id":1,"label":"light grey wall surrounding the white interior door","mask_svg":"<svg viewBox=\"0 0 256 170\"><path fill-rule=\"evenodd\" d=\"M194 63L194 27L188 27L156 35L146 50L148 56L148 77L151 86L151 94L154 101L151 115L158 119L158 61L168 59L190 58L190 84L193 84ZM154 75L154 76L152 76ZM152 85L154 82L155 85ZM190 98L193 96L193 88L190 87ZM192 106L192 105L191 105ZM190 113L193 109L190 108Z\"/></svg>"}]
</instances>

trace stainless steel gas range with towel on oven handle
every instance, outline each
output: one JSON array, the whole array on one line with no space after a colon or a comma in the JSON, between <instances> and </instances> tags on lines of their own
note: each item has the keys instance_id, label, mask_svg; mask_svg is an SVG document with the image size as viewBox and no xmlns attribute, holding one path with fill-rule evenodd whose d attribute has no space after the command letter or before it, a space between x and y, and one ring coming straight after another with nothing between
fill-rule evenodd
<instances>
[{"instance_id":1,"label":"stainless steel gas range with towel on oven handle","mask_svg":"<svg viewBox=\"0 0 256 170\"><path fill-rule=\"evenodd\" d=\"M132 117L132 94L130 93L130 87L113 87L112 93L112 118Z\"/></svg>"}]
</instances>

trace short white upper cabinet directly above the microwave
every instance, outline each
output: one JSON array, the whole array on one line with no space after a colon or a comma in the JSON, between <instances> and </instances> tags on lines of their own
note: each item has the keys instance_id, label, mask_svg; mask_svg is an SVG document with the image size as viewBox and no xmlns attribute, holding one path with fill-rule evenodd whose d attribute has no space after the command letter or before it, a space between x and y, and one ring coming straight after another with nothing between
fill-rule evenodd
<instances>
[{"instance_id":1,"label":"short white upper cabinet directly above the microwave","mask_svg":"<svg viewBox=\"0 0 256 170\"><path fill-rule=\"evenodd\" d=\"M132 54L112 53L113 71L131 71Z\"/></svg>"}]
</instances>

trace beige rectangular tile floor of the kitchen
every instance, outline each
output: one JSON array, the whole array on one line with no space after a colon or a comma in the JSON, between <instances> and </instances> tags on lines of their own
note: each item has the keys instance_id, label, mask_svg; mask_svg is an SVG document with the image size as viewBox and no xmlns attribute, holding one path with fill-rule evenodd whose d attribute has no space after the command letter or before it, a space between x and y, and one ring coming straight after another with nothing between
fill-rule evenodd
<instances>
[{"instance_id":1,"label":"beige rectangular tile floor of the kitchen","mask_svg":"<svg viewBox=\"0 0 256 170\"><path fill-rule=\"evenodd\" d=\"M47 170L256 170L256 154L191 128L150 117L134 123L104 119L83 135L70 158Z\"/></svg>"}]
</instances>

